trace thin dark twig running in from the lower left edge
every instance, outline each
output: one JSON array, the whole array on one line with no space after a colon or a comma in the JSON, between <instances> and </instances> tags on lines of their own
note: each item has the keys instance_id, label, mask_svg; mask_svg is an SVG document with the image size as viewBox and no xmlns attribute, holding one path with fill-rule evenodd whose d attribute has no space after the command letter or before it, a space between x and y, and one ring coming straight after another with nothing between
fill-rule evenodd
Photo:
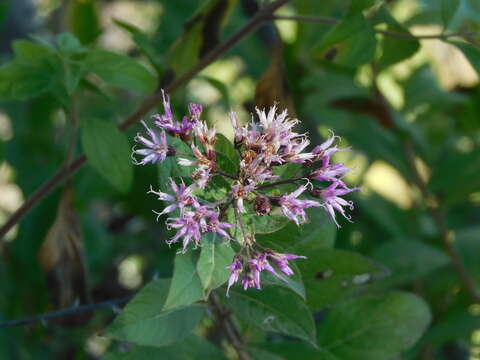
<instances>
[{"instance_id":1,"label":"thin dark twig running in from the lower left edge","mask_svg":"<svg viewBox=\"0 0 480 360\"><path fill-rule=\"evenodd\" d=\"M97 310L97 309L101 309L101 308L111 308L115 305L126 303L131 298L133 298L133 295L126 296L126 297L123 297L123 298L108 300L108 301L102 301L102 302L95 303L95 304L75 306L75 307L71 307L71 308L68 308L68 309L55 311L55 312L51 312L51 313L48 313L48 314L42 314L42 315L31 317L31 318L3 321L3 322L0 322L0 328L13 327L13 326L24 326L24 325L35 324L35 323L38 323L38 322L44 323L48 320L63 318L63 317L75 315L75 314L78 314L78 313L81 313L81 312L92 311L92 310Z\"/></svg>"}]
</instances>

